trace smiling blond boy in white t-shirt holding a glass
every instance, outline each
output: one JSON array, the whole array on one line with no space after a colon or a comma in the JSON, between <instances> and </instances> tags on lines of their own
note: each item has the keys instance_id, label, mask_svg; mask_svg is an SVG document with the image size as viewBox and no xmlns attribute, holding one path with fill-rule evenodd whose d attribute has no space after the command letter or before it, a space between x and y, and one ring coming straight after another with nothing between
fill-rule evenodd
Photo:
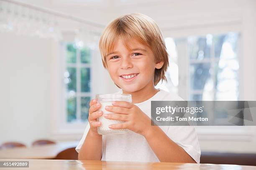
<instances>
[{"instance_id":1,"label":"smiling blond boy in white t-shirt holding a glass","mask_svg":"<svg viewBox=\"0 0 256 170\"><path fill-rule=\"evenodd\" d=\"M122 135L99 135L100 103L90 101L88 125L76 150L79 160L199 163L200 146L194 127L151 126L151 100L182 100L156 89L166 80L168 54L159 27L142 14L121 16L112 21L100 38L104 67L132 103L115 101L103 115L124 123L111 129L129 129Z\"/></svg>"}]
</instances>

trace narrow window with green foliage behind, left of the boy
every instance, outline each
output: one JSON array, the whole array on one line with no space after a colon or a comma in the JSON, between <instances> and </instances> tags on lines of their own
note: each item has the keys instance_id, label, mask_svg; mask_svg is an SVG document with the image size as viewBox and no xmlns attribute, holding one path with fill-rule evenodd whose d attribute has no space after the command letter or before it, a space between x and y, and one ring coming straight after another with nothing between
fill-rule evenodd
<instances>
[{"instance_id":1,"label":"narrow window with green foliage behind, left of the boy","mask_svg":"<svg viewBox=\"0 0 256 170\"><path fill-rule=\"evenodd\" d=\"M63 43L65 50L65 115L68 123L85 122L91 100L91 50Z\"/></svg>"}]
</instances>

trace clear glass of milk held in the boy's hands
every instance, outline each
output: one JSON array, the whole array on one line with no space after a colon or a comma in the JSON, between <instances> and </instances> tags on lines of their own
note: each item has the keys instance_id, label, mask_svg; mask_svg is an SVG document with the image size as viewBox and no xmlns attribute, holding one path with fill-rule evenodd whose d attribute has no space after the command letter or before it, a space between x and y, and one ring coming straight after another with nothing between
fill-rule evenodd
<instances>
[{"instance_id":1,"label":"clear glass of milk held in the boy's hands","mask_svg":"<svg viewBox=\"0 0 256 170\"><path fill-rule=\"evenodd\" d=\"M102 112L103 112L102 116L97 118L97 121L101 122L100 127L97 128L98 133L100 135L114 135L114 134L128 133L128 129L110 129L110 128L108 128L109 125L123 123L124 121L110 120L110 119L105 118L103 115L113 113L113 112L109 112L109 111L105 110L106 106L112 106L113 101L132 102L131 95L120 94L120 93L97 94L96 99L101 104L101 107L99 110L102 110Z\"/></svg>"}]
</instances>

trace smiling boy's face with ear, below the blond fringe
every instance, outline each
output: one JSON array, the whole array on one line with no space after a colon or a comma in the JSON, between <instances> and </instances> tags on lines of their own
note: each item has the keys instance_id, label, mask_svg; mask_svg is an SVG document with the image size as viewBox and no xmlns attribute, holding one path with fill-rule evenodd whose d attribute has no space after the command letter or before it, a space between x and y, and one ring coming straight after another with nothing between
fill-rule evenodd
<instances>
[{"instance_id":1,"label":"smiling boy's face with ear, below the blond fringe","mask_svg":"<svg viewBox=\"0 0 256 170\"><path fill-rule=\"evenodd\" d=\"M137 40L127 43L130 50L119 38L112 51L114 53L107 55L110 77L125 92L136 92L146 86L154 87L155 68L161 68L164 63L156 64L151 49Z\"/></svg>"}]
</instances>

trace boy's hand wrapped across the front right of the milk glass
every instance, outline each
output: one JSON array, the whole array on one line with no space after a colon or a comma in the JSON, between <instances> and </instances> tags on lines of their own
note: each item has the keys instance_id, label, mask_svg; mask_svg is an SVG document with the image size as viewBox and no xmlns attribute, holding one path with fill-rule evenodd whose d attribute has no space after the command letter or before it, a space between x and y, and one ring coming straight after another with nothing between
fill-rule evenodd
<instances>
[{"instance_id":1,"label":"boy's hand wrapped across the front right of the milk glass","mask_svg":"<svg viewBox=\"0 0 256 170\"><path fill-rule=\"evenodd\" d=\"M151 119L138 106L124 101L115 101L112 102L112 105L106 106L105 110L113 113L104 114L104 117L125 122L112 124L110 129L129 129L141 135L145 135L146 131L150 129Z\"/></svg>"}]
</instances>

